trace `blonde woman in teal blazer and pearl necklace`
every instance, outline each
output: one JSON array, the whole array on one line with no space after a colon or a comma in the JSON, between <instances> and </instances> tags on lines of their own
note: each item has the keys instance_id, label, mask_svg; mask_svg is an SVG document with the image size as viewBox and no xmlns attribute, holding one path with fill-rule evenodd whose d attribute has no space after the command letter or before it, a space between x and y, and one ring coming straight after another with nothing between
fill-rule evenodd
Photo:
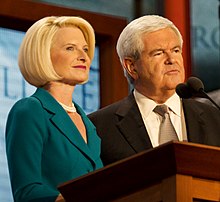
<instances>
[{"instance_id":1,"label":"blonde woman in teal blazer and pearl necklace","mask_svg":"<svg viewBox=\"0 0 220 202\"><path fill-rule=\"evenodd\" d=\"M45 17L27 31L19 68L37 90L15 103L6 126L15 201L58 201L59 184L103 166L95 127L72 102L94 49L93 28L80 17Z\"/></svg>"}]
</instances>

